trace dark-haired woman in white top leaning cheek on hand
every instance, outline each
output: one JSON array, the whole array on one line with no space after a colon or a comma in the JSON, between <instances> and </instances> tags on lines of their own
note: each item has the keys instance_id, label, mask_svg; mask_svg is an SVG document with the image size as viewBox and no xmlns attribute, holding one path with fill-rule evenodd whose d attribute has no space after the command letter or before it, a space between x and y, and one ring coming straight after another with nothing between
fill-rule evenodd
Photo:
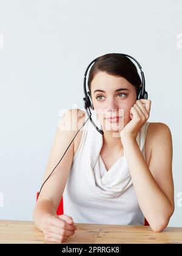
<instances>
[{"instance_id":1,"label":"dark-haired woman in white top leaning cheek on hand","mask_svg":"<svg viewBox=\"0 0 182 256\"><path fill-rule=\"evenodd\" d=\"M92 119L69 110L60 121L33 218L45 240L62 243L74 222L143 225L163 230L174 212L172 136L164 123L149 123L149 99L137 99L141 79L135 65L120 54L94 63L88 86ZM82 127L82 124L84 126ZM75 129L76 127L76 129ZM64 215L56 209L64 197Z\"/></svg>"}]
</instances>

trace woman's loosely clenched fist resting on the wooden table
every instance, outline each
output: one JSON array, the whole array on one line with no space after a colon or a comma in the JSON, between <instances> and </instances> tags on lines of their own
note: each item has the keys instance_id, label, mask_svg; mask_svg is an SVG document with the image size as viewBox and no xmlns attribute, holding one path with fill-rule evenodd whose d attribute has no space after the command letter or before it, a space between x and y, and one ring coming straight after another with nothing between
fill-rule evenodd
<instances>
[{"instance_id":1,"label":"woman's loosely clenched fist resting on the wooden table","mask_svg":"<svg viewBox=\"0 0 182 256\"><path fill-rule=\"evenodd\" d=\"M72 217L68 215L47 216L42 232L45 241L64 243L75 233L77 227L73 225Z\"/></svg>"}]
</instances>

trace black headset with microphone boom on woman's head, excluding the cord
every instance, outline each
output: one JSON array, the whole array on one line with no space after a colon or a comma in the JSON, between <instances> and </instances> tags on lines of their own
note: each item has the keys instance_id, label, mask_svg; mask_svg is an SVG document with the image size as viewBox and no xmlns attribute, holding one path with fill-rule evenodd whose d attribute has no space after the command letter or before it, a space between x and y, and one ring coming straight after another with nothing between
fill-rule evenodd
<instances>
[{"instance_id":1,"label":"black headset with microphone boom on woman's head, excluding the cord","mask_svg":"<svg viewBox=\"0 0 182 256\"><path fill-rule=\"evenodd\" d=\"M148 93L145 89L145 77L144 77L144 73L142 71L142 68L141 68L141 65L140 63L135 59L133 58L132 56L128 55L128 54L120 54L122 56L125 56L125 57L129 57L130 59L134 60L136 62L136 64L138 65L138 67L140 68L140 73L141 73L141 87L138 88L138 94L137 94L137 99L147 99L148 98ZM101 57L101 56L99 56ZM84 102L84 108L86 110L86 113L87 115L89 116L89 119L91 121L91 123L93 124L93 126L95 127L96 130L98 130L99 133L101 133L101 135L104 134L103 130L102 129L99 129L96 124L93 122L92 120L92 113L90 112L90 108L94 109L93 108L93 103L92 103L92 99L91 99L91 93L90 91L87 91L86 89L86 79L87 79L87 72L90 68L90 66L92 65L92 63L95 63L99 57L97 57L95 60L92 60L92 62L90 62L89 66L87 66L87 69L84 73L84 82L83 82L83 87L84 87L84 94L85 94L85 97L83 98L83 102Z\"/></svg>"}]
</instances>

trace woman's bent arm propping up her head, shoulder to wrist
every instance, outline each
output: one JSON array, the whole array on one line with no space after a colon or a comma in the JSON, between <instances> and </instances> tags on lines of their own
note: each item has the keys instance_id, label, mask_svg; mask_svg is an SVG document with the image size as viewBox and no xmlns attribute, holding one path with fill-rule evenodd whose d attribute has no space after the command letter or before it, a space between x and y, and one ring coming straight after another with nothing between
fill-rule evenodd
<instances>
[{"instance_id":1,"label":"woman's bent arm propping up her head, shoulder to wrist","mask_svg":"<svg viewBox=\"0 0 182 256\"><path fill-rule=\"evenodd\" d=\"M125 137L122 143L141 211L152 230L160 232L174 213L172 136L166 124L154 124L155 131L150 134L152 154L149 166L134 138Z\"/></svg>"}]
</instances>

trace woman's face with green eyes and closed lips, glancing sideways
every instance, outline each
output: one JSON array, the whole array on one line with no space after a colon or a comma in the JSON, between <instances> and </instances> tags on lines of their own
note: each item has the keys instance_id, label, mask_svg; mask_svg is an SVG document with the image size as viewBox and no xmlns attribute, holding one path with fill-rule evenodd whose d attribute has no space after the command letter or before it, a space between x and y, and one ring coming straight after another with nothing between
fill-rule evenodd
<instances>
[{"instance_id":1,"label":"woman's face with green eyes and closed lips, glancing sideways","mask_svg":"<svg viewBox=\"0 0 182 256\"><path fill-rule=\"evenodd\" d=\"M93 107L103 130L120 132L131 120L130 108L136 102L136 88L124 77L100 71L90 85ZM116 119L109 117L119 116Z\"/></svg>"}]
</instances>

